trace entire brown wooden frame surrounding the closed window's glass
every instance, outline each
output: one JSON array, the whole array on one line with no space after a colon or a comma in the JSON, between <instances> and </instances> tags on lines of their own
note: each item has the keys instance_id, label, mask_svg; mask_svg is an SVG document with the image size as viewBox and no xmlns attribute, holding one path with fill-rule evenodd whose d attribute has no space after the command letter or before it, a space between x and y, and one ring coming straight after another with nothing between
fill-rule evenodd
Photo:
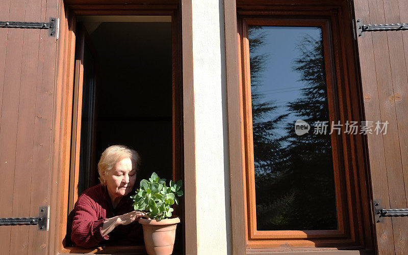
<instances>
[{"instance_id":1,"label":"entire brown wooden frame surrounding the closed window's glass","mask_svg":"<svg viewBox=\"0 0 408 255\"><path fill-rule=\"evenodd\" d=\"M332 134L335 169L338 166L335 170L336 194L343 192L342 200L336 195L340 209L338 231L257 231L254 211L252 118L247 82L250 77L249 56L243 27L247 24L298 26L297 22L305 19L308 21L303 22L304 26L322 27L323 38L330 38L323 40L326 74L330 76L326 77L327 96L335 99L331 104L329 100L329 121L362 121L363 97L349 2L226 0L224 15L228 127L234 130L229 133L230 162L234 162L230 166L234 252L371 250L373 228L366 137L363 135L342 133L341 137L333 137ZM333 66L333 73L329 73L328 66Z\"/></svg>"}]
</instances>

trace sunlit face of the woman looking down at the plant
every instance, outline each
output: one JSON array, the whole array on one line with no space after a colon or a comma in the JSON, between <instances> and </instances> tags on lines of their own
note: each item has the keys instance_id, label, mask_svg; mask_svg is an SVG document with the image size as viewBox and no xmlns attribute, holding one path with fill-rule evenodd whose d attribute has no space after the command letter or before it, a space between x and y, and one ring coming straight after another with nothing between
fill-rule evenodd
<instances>
[{"instance_id":1,"label":"sunlit face of the woman looking down at the plant","mask_svg":"<svg viewBox=\"0 0 408 255\"><path fill-rule=\"evenodd\" d=\"M111 198L129 194L136 181L136 164L130 158L122 158L105 176Z\"/></svg>"}]
</instances>

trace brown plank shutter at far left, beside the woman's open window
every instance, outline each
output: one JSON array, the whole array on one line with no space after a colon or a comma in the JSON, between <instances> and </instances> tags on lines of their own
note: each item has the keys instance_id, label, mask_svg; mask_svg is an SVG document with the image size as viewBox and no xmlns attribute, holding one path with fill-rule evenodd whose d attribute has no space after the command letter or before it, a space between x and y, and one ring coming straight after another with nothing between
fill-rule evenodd
<instances>
[{"instance_id":1,"label":"brown plank shutter at far left, beside the woman's open window","mask_svg":"<svg viewBox=\"0 0 408 255\"><path fill-rule=\"evenodd\" d=\"M2 21L48 21L55 0L0 0ZM0 217L37 217L48 205L56 38L0 28ZM2 254L45 254L37 225L0 226Z\"/></svg>"}]
</instances>

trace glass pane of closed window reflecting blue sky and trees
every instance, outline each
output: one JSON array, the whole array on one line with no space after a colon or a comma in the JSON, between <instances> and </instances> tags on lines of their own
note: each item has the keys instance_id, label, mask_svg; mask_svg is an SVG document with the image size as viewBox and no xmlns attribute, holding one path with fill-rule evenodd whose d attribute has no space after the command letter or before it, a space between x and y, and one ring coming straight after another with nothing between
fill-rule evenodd
<instances>
[{"instance_id":1,"label":"glass pane of closed window reflecting blue sky and trees","mask_svg":"<svg viewBox=\"0 0 408 255\"><path fill-rule=\"evenodd\" d=\"M314 134L329 121L321 28L249 26L248 39L257 229L337 230L330 135Z\"/></svg>"}]
</instances>

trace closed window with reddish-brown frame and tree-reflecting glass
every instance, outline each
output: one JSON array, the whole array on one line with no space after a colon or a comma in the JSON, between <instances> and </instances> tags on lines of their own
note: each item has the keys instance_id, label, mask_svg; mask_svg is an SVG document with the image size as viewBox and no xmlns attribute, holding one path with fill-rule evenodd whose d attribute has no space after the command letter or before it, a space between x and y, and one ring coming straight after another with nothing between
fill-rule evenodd
<instances>
[{"instance_id":1,"label":"closed window with reddish-brown frame and tree-reflecting glass","mask_svg":"<svg viewBox=\"0 0 408 255\"><path fill-rule=\"evenodd\" d=\"M369 247L346 1L237 2L245 248Z\"/></svg>"}]
</instances>

